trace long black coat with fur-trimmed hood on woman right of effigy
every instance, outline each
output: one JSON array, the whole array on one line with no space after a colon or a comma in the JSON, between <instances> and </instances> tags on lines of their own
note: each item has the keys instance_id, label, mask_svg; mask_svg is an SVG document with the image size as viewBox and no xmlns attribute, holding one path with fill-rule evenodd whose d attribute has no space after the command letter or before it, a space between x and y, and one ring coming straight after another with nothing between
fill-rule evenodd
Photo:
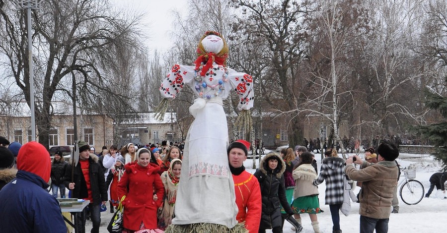
<instances>
[{"instance_id":1,"label":"long black coat with fur-trimmed hood on woman right of effigy","mask_svg":"<svg viewBox=\"0 0 447 233\"><path fill-rule=\"evenodd\" d=\"M268 165L268 160L271 159L278 161L278 166L273 171ZM261 161L259 167L254 176L258 179L261 187L262 213L260 229L281 227L281 205L289 215L293 214L290 203L287 202L284 184L283 173L286 170L286 164L278 153L269 153Z\"/></svg>"}]
</instances>

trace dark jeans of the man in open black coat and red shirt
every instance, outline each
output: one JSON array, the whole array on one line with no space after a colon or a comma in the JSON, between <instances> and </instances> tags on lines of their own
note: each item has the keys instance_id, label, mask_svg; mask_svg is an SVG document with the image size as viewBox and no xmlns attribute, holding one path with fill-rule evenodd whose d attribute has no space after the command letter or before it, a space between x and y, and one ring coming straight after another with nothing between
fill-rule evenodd
<instances>
[{"instance_id":1,"label":"dark jeans of the man in open black coat and red shirt","mask_svg":"<svg viewBox=\"0 0 447 233\"><path fill-rule=\"evenodd\" d=\"M88 204L90 210L90 220L93 227L91 228L91 233L99 233L99 225L101 224L101 203ZM86 208L81 212L74 214L74 227L76 233L85 233L85 212Z\"/></svg>"}]
</instances>

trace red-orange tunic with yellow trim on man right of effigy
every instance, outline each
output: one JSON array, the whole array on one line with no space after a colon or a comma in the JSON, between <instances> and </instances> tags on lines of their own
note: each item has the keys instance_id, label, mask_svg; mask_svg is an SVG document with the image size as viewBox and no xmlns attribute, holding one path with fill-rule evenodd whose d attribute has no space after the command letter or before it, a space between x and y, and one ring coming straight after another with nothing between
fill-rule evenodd
<instances>
[{"instance_id":1,"label":"red-orange tunic with yellow trim on man right of effigy","mask_svg":"<svg viewBox=\"0 0 447 233\"><path fill-rule=\"evenodd\" d=\"M257 233L261 221L262 200L261 189L256 177L243 171L240 175L233 175L236 205L239 209L236 220L245 221L245 228L249 233Z\"/></svg>"}]
</instances>

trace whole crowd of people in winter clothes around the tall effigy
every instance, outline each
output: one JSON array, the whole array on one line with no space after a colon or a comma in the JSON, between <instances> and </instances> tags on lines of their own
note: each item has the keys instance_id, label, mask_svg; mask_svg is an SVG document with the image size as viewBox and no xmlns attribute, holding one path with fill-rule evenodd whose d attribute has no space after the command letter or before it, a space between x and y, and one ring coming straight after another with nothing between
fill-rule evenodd
<instances>
[{"instance_id":1,"label":"whole crowd of people in winter clothes around the tall effigy","mask_svg":"<svg viewBox=\"0 0 447 233\"><path fill-rule=\"evenodd\" d=\"M86 142L77 144L79 164L74 168L60 152L50 161L48 151L36 142L18 148L13 144L8 148L7 144L0 146L0 212L4 216L0 224L8 232L15 232L15 225L26 229L25 232L66 232L58 196L90 201L88 214L87 209L74 214L76 232L85 232L86 216L92 222L91 232L99 232L100 207L107 201L112 213L120 202L124 206L124 233L141 230L162 233L172 223L182 170L179 147L169 143L159 147L129 143L120 150L115 145L102 148L96 155L95 148ZM243 166L248 148L249 142L234 141L227 148L227 156L236 190L236 221L244 223L249 233L265 233L266 229L282 233L285 221L298 233L302 230L302 214L309 215L313 231L320 233L317 215L323 210L319 206L318 185L323 181L332 233L342 232L339 212L347 180L358 181L361 186L358 194L361 233L374 230L386 233L391 209L392 213L398 213L394 212L393 199L399 176L395 159L399 152L393 143L381 142L376 149L365 149L363 158L354 155L347 160L340 158L336 149L325 150L319 169L314 154L304 146L296 146L295 150L268 153L253 175ZM166 152L160 153L163 149ZM360 170L353 164L361 165ZM430 181L427 197L435 186L444 190L446 173L434 174ZM48 194L50 186L52 195ZM66 188L70 190L68 194ZM17 198L11 199L17 196L23 196L20 200L25 205L17 203ZM45 208L46 214L37 215L33 208ZM28 218L31 214L35 215L32 220Z\"/></svg>"}]
</instances>

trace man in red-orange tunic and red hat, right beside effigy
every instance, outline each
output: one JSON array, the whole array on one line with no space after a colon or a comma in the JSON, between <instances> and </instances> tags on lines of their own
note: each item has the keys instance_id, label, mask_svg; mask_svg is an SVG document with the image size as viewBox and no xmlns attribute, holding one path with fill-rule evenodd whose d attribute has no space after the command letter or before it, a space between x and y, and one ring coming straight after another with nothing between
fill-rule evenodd
<instances>
[{"instance_id":1,"label":"man in red-orange tunic and red hat, right beside effigy","mask_svg":"<svg viewBox=\"0 0 447 233\"><path fill-rule=\"evenodd\" d=\"M234 181L236 205L239 209L236 220L239 223L245 221L245 228L249 233L257 233L261 221L261 190L256 177L245 171L243 166L247 159L250 143L245 140L237 140L228 146L228 163Z\"/></svg>"}]
</instances>

